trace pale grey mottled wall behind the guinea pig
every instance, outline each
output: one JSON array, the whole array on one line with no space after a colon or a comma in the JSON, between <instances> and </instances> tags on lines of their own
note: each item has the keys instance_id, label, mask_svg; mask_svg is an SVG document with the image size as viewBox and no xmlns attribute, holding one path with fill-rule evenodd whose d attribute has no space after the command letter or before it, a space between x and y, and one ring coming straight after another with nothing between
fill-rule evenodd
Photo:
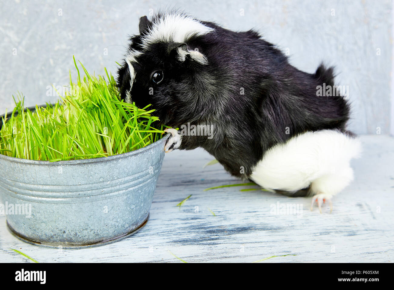
<instances>
[{"instance_id":1,"label":"pale grey mottled wall behind the guinea pig","mask_svg":"<svg viewBox=\"0 0 394 290\"><path fill-rule=\"evenodd\" d=\"M107 67L115 74L128 35L138 32L139 17L180 8L232 30L255 28L289 52L290 62L301 70L312 73L321 61L335 65L336 83L349 86L350 129L376 134L380 127L381 134L390 132L389 0L3 0L1 7L0 113L14 107L11 96L17 91L26 96L26 106L53 102L57 97L47 96L46 87L67 85L69 69L75 79L73 54L89 72L104 74Z\"/></svg>"}]
</instances>

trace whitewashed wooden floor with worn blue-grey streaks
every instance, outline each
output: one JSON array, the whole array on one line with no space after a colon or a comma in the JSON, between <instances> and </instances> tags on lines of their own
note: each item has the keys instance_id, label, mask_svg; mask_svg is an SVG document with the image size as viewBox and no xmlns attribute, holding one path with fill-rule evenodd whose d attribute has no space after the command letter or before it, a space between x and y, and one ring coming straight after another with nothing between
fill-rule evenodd
<instances>
[{"instance_id":1,"label":"whitewashed wooden floor with worn blue-grey streaks","mask_svg":"<svg viewBox=\"0 0 394 290\"><path fill-rule=\"evenodd\" d=\"M167 153L151 218L134 236L80 250L19 241L0 217L0 261L27 262L392 262L394 248L394 138L361 136L364 153L353 161L355 181L333 199L334 209L310 211L310 198L289 198L240 183L221 165L203 165L203 150ZM181 208L176 205L187 196ZM298 211L291 212L295 205ZM288 210L282 210L288 206ZM302 206L302 210L301 210ZM275 210L278 209L277 212ZM213 215L213 213L215 215ZM171 254L172 253L172 254Z\"/></svg>"}]
</instances>

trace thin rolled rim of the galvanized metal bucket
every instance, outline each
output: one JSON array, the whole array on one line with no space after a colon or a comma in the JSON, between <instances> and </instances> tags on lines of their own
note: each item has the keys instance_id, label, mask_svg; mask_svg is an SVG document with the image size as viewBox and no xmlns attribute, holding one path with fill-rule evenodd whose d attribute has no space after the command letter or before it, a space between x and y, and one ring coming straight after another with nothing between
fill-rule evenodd
<instances>
[{"instance_id":1,"label":"thin rolled rim of the galvanized metal bucket","mask_svg":"<svg viewBox=\"0 0 394 290\"><path fill-rule=\"evenodd\" d=\"M41 105L38 107L46 107L46 105ZM30 107L27 109L35 110L35 107ZM9 112L7 115L9 115L9 114L11 114L11 112ZM5 116L5 114L2 116ZM0 126L0 129L1 129L1 126ZM77 160L47 161L47 160L31 160L31 159L11 157L11 156L3 155L0 153L0 159L4 159L4 160L10 161L10 162L33 164L33 165L49 165L49 164L61 164L61 165L69 165L70 164L71 165L71 164L84 164L84 163L94 163L94 162L102 162L102 161L105 162L105 161L116 160L116 159L119 159L122 157L130 157L133 155L138 155L138 154L144 152L145 150L149 150L150 148L158 146L160 143L159 141L162 140L163 138L169 138L169 135L170 135L170 133L167 133L166 135L164 135L164 137L160 138L156 142L153 142L152 144L149 144L148 146L145 146L143 148L139 148L137 150L133 150L133 151L129 151L129 152L121 153L121 154L111 155L108 157L96 157L96 158L77 159ZM163 150L164 150L164 148L163 148Z\"/></svg>"}]
</instances>

